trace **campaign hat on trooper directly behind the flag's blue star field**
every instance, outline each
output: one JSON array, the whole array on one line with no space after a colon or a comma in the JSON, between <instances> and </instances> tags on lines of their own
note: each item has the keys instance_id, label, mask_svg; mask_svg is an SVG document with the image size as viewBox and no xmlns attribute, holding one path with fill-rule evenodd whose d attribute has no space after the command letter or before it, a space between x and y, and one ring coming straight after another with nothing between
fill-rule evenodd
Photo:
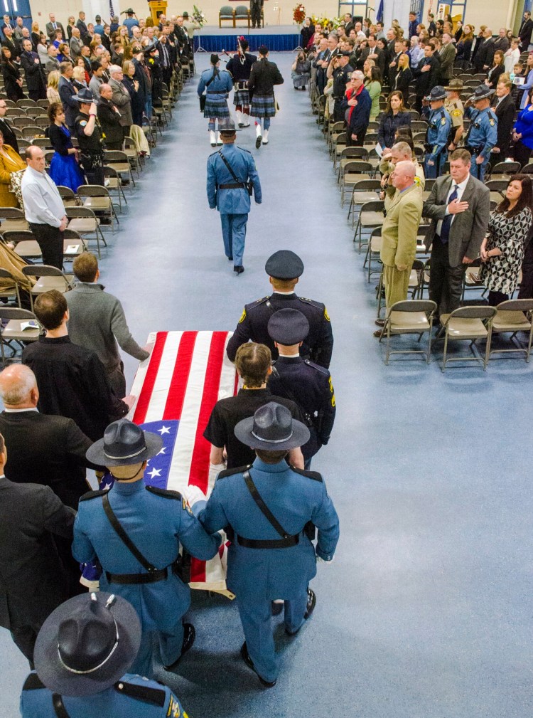
<instances>
[{"instance_id":1,"label":"campaign hat on trooper directly behind the flag's blue star field","mask_svg":"<svg viewBox=\"0 0 533 718\"><path fill-rule=\"evenodd\" d=\"M162 446L163 439L157 434L143 432L129 419L118 419L109 424L103 439L90 446L85 456L100 466L128 466L155 456Z\"/></svg>"}]
</instances>

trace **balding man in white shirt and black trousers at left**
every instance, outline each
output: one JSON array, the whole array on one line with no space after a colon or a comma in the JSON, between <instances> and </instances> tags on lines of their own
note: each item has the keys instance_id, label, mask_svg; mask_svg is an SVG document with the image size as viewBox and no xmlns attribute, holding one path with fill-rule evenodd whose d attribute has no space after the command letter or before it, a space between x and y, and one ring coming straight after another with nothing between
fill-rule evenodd
<instances>
[{"instance_id":1,"label":"balding man in white shirt and black trousers at left","mask_svg":"<svg viewBox=\"0 0 533 718\"><path fill-rule=\"evenodd\" d=\"M67 228L65 205L57 187L44 172L40 147L26 149L27 169L22 177L24 215L41 248L42 263L63 269L63 232Z\"/></svg>"}]
</instances>

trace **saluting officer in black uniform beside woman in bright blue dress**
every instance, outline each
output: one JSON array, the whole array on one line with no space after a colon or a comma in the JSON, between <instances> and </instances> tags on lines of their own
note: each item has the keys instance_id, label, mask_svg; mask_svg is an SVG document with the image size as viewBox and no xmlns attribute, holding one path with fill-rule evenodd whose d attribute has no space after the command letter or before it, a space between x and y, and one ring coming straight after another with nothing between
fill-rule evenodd
<instances>
[{"instance_id":1,"label":"saluting officer in black uniform beside woman in bright blue dress","mask_svg":"<svg viewBox=\"0 0 533 718\"><path fill-rule=\"evenodd\" d=\"M83 88L73 100L80 103L80 113L74 122L74 134L80 146L80 159L90 185L104 184L103 138L96 118L98 100L88 88Z\"/></svg>"}]
</instances>

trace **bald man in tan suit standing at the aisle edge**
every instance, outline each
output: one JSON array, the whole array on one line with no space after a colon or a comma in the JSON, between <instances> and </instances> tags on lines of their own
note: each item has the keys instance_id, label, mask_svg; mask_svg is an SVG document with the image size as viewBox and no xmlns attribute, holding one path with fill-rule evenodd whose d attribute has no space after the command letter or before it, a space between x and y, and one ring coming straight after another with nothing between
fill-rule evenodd
<instances>
[{"instance_id":1,"label":"bald man in tan suit standing at the aisle edge","mask_svg":"<svg viewBox=\"0 0 533 718\"><path fill-rule=\"evenodd\" d=\"M415 174L413 162L397 162L392 172L392 185L397 192L382 226L382 248L379 253L383 262L387 309L395 302L407 299L423 207L422 192L415 183ZM376 324L382 327L385 321L378 319ZM374 332L374 337L379 336L380 330Z\"/></svg>"}]
</instances>

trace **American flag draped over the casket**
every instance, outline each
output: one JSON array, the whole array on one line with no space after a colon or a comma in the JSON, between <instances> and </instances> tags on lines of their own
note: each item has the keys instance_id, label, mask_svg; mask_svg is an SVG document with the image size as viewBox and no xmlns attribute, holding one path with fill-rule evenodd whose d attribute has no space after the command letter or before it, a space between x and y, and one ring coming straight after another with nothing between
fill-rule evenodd
<instances>
[{"instance_id":1,"label":"American flag draped over the casket","mask_svg":"<svg viewBox=\"0 0 533 718\"><path fill-rule=\"evenodd\" d=\"M203 432L214 404L237 393L237 373L226 355L232 332L156 332L150 358L133 381L137 397L129 415L147 431L161 434L164 446L149 460L145 481L183 492L198 486L209 495L209 451ZM154 517L156 520L156 517ZM210 561L192 559L191 587L223 591L225 547Z\"/></svg>"}]
</instances>

